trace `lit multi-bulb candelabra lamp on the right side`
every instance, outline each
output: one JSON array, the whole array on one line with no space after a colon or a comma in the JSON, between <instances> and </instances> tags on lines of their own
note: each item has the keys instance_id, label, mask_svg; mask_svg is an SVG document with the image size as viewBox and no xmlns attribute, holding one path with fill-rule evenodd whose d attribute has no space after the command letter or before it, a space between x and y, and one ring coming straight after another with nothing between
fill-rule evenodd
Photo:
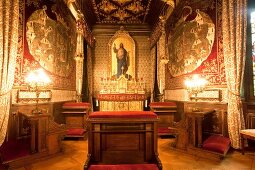
<instances>
[{"instance_id":1,"label":"lit multi-bulb candelabra lamp on the right side","mask_svg":"<svg viewBox=\"0 0 255 170\"><path fill-rule=\"evenodd\" d=\"M197 94L205 90L206 84L207 84L207 80L204 78L201 78L197 74L193 75L191 79L185 80L187 91L191 95L195 95L195 102L197 102L198 100ZM199 109L195 107L193 111L199 111Z\"/></svg>"}]
</instances>

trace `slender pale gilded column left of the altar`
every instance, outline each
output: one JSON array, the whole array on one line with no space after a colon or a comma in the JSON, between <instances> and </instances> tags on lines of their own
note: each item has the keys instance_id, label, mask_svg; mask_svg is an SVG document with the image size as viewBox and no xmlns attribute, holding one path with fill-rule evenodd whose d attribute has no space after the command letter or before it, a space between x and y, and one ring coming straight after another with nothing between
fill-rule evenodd
<instances>
[{"instance_id":1,"label":"slender pale gilded column left of the altar","mask_svg":"<svg viewBox=\"0 0 255 170\"><path fill-rule=\"evenodd\" d=\"M76 47L76 101L82 101L82 81L83 81L83 60L84 60L84 49L83 49L83 15L80 14L76 22L77 27L77 47Z\"/></svg>"}]
</instances>

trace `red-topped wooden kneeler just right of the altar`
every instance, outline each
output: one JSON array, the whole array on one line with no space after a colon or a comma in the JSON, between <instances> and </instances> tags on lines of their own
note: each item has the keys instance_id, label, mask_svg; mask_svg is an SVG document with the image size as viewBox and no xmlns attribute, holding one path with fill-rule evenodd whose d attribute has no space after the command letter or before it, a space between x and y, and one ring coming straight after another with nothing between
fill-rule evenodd
<instances>
[{"instance_id":1,"label":"red-topped wooden kneeler just right of the altar","mask_svg":"<svg viewBox=\"0 0 255 170\"><path fill-rule=\"evenodd\" d=\"M159 116L158 135L176 135L170 126L173 126L174 115L177 113L175 102L152 102L150 109Z\"/></svg>"}]
</instances>

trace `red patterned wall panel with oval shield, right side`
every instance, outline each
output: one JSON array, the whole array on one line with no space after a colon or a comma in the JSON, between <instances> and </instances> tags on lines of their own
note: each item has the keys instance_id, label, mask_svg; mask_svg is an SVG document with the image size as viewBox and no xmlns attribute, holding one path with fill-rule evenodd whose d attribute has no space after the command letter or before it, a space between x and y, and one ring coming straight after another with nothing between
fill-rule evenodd
<instances>
[{"instance_id":1,"label":"red patterned wall panel with oval shield, right side","mask_svg":"<svg viewBox=\"0 0 255 170\"><path fill-rule=\"evenodd\" d=\"M220 0L184 0L166 23L169 62L166 90L185 88L185 78L200 74L208 86L226 86Z\"/></svg>"}]
</instances>

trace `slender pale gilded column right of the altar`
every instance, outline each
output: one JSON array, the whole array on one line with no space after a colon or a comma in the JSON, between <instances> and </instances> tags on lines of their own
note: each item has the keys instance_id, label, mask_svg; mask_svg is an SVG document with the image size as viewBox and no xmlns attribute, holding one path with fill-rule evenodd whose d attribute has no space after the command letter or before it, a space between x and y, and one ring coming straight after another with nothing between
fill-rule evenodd
<instances>
[{"instance_id":1,"label":"slender pale gilded column right of the altar","mask_svg":"<svg viewBox=\"0 0 255 170\"><path fill-rule=\"evenodd\" d=\"M166 32L165 32L165 16L160 16L160 27L162 34L159 38L159 64L158 64L158 83L159 83L159 91L162 97L164 97L164 90L165 90L165 69L166 64L168 63L168 54L167 54L167 45L166 45ZM161 100L163 98L161 97Z\"/></svg>"}]
</instances>

